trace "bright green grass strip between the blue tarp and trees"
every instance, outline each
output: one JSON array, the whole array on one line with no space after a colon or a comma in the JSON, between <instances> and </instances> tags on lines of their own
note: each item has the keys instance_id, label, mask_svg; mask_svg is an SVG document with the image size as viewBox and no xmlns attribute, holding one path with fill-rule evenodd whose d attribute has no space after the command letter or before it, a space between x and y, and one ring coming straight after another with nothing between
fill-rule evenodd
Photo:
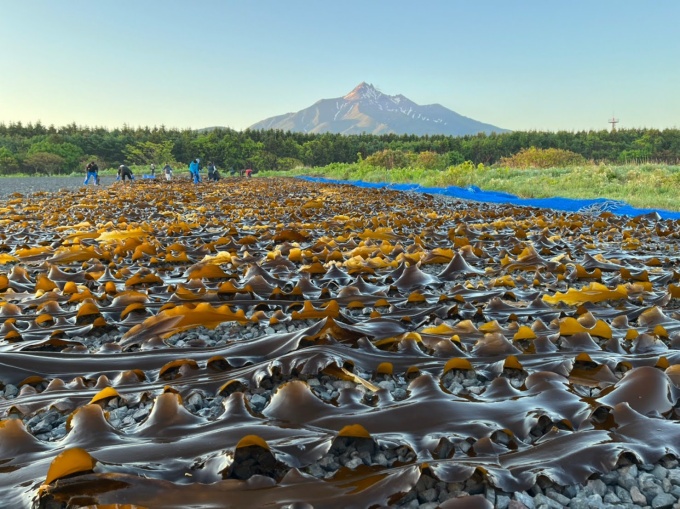
<instances>
[{"instance_id":1,"label":"bright green grass strip between the blue tarp and trees","mask_svg":"<svg viewBox=\"0 0 680 509\"><path fill-rule=\"evenodd\" d=\"M365 163L331 164L259 176L318 176L366 182L417 183L424 187L477 186L522 198L606 198L639 208L680 210L680 166L588 164L568 168L516 169L463 163L446 170L387 170Z\"/></svg>"}]
</instances>

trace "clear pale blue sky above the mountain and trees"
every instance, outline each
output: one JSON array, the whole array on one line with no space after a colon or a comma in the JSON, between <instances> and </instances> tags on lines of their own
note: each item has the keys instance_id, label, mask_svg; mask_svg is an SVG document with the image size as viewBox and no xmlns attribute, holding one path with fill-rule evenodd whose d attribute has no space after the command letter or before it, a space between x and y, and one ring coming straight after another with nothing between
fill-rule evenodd
<instances>
[{"instance_id":1,"label":"clear pale blue sky above the mountain and trees","mask_svg":"<svg viewBox=\"0 0 680 509\"><path fill-rule=\"evenodd\" d=\"M245 129L362 81L513 130L680 127L679 0L0 0L0 122Z\"/></svg>"}]
</instances>

